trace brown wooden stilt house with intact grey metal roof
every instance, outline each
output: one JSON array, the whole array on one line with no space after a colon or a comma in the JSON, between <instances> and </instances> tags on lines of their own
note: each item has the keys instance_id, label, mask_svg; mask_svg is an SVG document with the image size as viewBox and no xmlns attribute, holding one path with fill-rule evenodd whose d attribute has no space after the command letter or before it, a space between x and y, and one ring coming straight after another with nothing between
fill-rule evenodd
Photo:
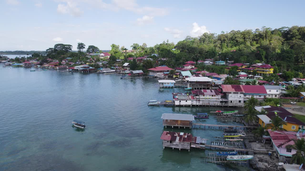
<instances>
[{"instance_id":1,"label":"brown wooden stilt house with intact grey metal roof","mask_svg":"<svg viewBox=\"0 0 305 171\"><path fill-rule=\"evenodd\" d=\"M163 119L163 126L171 127L192 127L192 121L195 120L193 115L189 114L174 114L174 113L163 113L161 116Z\"/></svg>"}]
</instances>

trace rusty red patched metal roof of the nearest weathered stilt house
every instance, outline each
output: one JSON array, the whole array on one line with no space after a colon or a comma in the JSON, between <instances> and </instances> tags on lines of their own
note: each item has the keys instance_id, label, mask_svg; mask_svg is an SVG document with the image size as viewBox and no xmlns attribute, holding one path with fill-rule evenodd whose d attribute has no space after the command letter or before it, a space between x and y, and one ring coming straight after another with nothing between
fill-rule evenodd
<instances>
[{"instance_id":1,"label":"rusty red patched metal roof of the nearest weathered stilt house","mask_svg":"<svg viewBox=\"0 0 305 171\"><path fill-rule=\"evenodd\" d=\"M191 133L163 131L160 139L176 142L192 142L192 137Z\"/></svg>"}]
</instances>

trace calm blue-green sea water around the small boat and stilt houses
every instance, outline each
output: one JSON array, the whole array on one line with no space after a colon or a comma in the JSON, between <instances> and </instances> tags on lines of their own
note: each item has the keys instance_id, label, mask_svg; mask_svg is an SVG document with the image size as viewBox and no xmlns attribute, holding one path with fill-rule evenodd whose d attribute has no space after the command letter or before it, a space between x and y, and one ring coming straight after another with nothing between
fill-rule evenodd
<instances>
[{"instance_id":1,"label":"calm blue-green sea water around the small boat and stilt houses","mask_svg":"<svg viewBox=\"0 0 305 171\"><path fill-rule=\"evenodd\" d=\"M159 89L155 79L122 80L117 74L30 70L0 65L0 170L249 170L203 162L209 149L163 149L162 113L221 109L146 105L171 99L172 92L184 92L181 88ZM196 122L216 124L213 117ZM86 128L72 127L74 119ZM210 140L222 134L166 130Z\"/></svg>"}]
</instances>

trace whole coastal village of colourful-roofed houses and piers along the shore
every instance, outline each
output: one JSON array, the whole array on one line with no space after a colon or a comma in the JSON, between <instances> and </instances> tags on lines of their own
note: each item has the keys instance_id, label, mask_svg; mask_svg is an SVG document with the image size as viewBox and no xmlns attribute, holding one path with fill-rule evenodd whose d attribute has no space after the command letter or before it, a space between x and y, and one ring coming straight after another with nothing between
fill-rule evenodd
<instances>
[{"instance_id":1,"label":"whole coastal village of colourful-roofed houses and piers along the shore","mask_svg":"<svg viewBox=\"0 0 305 171\"><path fill-rule=\"evenodd\" d=\"M129 51L132 52L132 51ZM293 156L298 153L293 147L299 141L305 141L305 123L298 120L288 110L294 109L296 102L302 102L305 92L300 92L298 97L289 96L287 88L298 88L304 86L305 79L293 78L281 82L264 81L264 77L273 74L273 66L257 63L234 63L234 61L213 61L204 59L199 61L186 61L184 65L169 68L165 65L142 70L131 70L132 61L139 65L145 60L153 61L150 56L138 58L127 58L116 60L114 65L108 65L109 53L86 54L90 60L71 62L72 58L62 61L47 58L46 63L41 61L27 60L22 63L10 62L9 59L2 60L3 67L31 68L29 71L58 70L60 72L81 73L104 73L121 74L121 79L145 79L155 78L160 84L160 89L182 87L185 92L173 92L172 99L151 100L149 106L221 106L235 107L233 111L216 111L215 119L224 124L210 125L196 123L195 119L208 119L208 113L199 115L163 113L161 119L164 127L178 127L181 132L163 131L161 140L163 148L177 148L179 150L190 150L192 148L213 148L224 151L211 153L204 158L205 162L212 163L245 163L250 160L253 168L259 170L296 170L300 165L291 165ZM92 56L102 57L102 61L95 61ZM152 54L154 58L158 54ZM91 67L96 64L99 68ZM90 66L91 65L91 66ZM237 67L237 75L199 71L197 65L225 65L225 71L231 67ZM34 68L32 70L32 68ZM253 75L253 72L256 75ZM281 75L281 73L277 73ZM228 79L238 82L238 85L226 84ZM227 80L227 81L226 81ZM260 106L268 99L277 99L276 102L269 101L270 105ZM284 102L283 102L284 100ZM248 109L239 112L239 108ZM249 109L251 108L251 109ZM303 107L302 112L304 111ZM287 110L288 109L288 110ZM202 117L201 114L204 114ZM212 113L211 113L212 114ZM229 123L228 123L229 122ZM234 125L234 122L243 123L244 126ZM213 140L204 137L195 137L190 133L182 132L191 128L219 129L224 131L224 137L213 137ZM210 141L210 142L209 142ZM255 148L253 147L255 145ZM260 147L257 147L259 145ZM232 151L232 155L227 154ZM244 155L248 153L249 155ZM254 156L245 159L231 156ZM285 163L285 164L284 164Z\"/></svg>"}]
</instances>

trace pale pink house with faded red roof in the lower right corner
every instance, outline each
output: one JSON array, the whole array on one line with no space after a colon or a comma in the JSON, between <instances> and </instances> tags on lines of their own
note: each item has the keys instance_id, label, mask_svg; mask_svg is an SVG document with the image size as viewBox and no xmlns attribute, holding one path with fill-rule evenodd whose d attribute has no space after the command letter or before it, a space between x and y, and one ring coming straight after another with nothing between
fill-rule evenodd
<instances>
[{"instance_id":1,"label":"pale pink house with faded red roof in the lower right corner","mask_svg":"<svg viewBox=\"0 0 305 171\"><path fill-rule=\"evenodd\" d=\"M287 148L287 145L294 145L294 141L305 139L305 135L302 133L297 134L294 131L272 131L271 129L268 129L268 133L271 137L275 155L278 157L280 162L290 163L292 155L296 154L296 150ZM294 170L299 170L299 168L289 169L289 171Z\"/></svg>"}]
</instances>

